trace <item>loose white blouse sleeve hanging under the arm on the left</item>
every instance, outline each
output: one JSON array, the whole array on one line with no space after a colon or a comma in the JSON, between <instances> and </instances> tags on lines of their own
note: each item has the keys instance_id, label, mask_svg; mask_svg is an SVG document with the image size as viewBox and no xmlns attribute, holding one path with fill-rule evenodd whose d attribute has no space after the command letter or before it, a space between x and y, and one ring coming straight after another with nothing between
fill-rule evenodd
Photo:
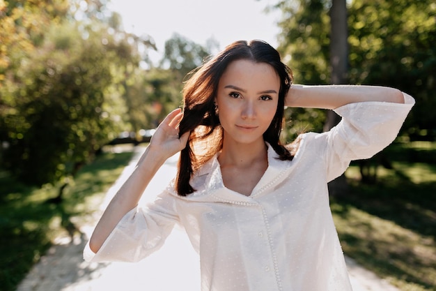
<instances>
[{"instance_id":1,"label":"loose white blouse sleeve hanging under the arm on the left","mask_svg":"<svg viewBox=\"0 0 436 291\"><path fill-rule=\"evenodd\" d=\"M84 259L88 262L138 262L157 251L179 221L173 198L165 191L147 207L129 211L98 253L93 253L89 244L86 246Z\"/></svg>"}]
</instances>

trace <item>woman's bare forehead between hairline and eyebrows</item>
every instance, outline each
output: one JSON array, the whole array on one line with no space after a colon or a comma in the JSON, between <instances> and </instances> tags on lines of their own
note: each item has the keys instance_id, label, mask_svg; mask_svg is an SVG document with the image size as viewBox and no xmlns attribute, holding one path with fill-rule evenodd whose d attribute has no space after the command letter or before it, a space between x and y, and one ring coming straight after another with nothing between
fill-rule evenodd
<instances>
[{"instance_id":1,"label":"woman's bare forehead between hairline and eyebrows","mask_svg":"<svg viewBox=\"0 0 436 291\"><path fill-rule=\"evenodd\" d=\"M247 86L270 86L280 87L280 78L276 70L267 63L240 59L228 64L219 80L226 86L228 83Z\"/></svg>"}]
</instances>

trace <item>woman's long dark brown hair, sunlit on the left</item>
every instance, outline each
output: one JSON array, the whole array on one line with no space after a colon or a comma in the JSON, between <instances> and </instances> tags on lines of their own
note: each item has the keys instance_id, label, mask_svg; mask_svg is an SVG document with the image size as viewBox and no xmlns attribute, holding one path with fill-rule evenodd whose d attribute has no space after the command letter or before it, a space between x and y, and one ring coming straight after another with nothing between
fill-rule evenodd
<instances>
[{"instance_id":1,"label":"woman's long dark brown hair, sunlit on the left","mask_svg":"<svg viewBox=\"0 0 436 291\"><path fill-rule=\"evenodd\" d=\"M269 64L280 78L279 102L270 126L263 133L279 158L292 160L293 154L280 142L285 97L292 83L292 72L283 64L279 52L262 40L240 40L228 45L215 57L192 73L183 89L183 118L179 135L191 132L185 149L180 152L176 188L179 195L195 191L189 184L192 174L222 149L223 129L215 113L215 96L221 75L232 61L247 59Z\"/></svg>"}]
</instances>

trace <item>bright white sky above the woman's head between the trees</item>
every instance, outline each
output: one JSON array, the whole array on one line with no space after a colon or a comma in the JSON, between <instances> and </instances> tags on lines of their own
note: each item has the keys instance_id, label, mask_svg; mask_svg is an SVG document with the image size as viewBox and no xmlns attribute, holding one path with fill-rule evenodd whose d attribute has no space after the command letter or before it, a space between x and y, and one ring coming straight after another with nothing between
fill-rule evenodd
<instances>
[{"instance_id":1,"label":"bright white sky above the woman's head between the trees","mask_svg":"<svg viewBox=\"0 0 436 291\"><path fill-rule=\"evenodd\" d=\"M262 39L277 47L280 11L266 13L273 0L111 0L109 8L120 13L126 31L150 35L160 59L164 43L179 33L205 45L215 38L219 49L235 40Z\"/></svg>"}]
</instances>

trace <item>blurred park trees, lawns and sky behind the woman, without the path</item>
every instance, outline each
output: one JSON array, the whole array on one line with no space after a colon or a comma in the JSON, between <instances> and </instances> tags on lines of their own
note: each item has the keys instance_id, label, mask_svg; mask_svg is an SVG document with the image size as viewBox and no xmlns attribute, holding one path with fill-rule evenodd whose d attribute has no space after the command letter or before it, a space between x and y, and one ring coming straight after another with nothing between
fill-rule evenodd
<instances>
[{"instance_id":1,"label":"blurred park trees, lawns and sky behind the woman, without the path","mask_svg":"<svg viewBox=\"0 0 436 291\"><path fill-rule=\"evenodd\" d=\"M0 289L79 232L181 105L191 70L253 38L277 47L297 84L414 96L398 139L329 185L331 205L345 254L400 290L436 290L433 0L0 0ZM338 122L286 117L286 142Z\"/></svg>"}]
</instances>

